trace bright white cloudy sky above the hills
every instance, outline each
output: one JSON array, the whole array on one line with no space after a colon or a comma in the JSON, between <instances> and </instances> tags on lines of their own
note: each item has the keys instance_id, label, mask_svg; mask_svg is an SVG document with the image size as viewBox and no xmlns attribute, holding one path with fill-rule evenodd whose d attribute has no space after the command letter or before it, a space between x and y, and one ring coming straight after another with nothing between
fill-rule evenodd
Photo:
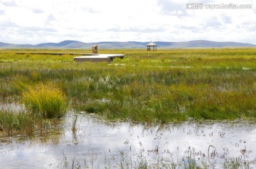
<instances>
[{"instance_id":1,"label":"bright white cloudy sky above the hills","mask_svg":"<svg viewBox=\"0 0 256 169\"><path fill-rule=\"evenodd\" d=\"M250 8L216 7L228 4ZM208 5L213 6L207 9ZM256 44L255 37L255 0L0 0L0 42L4 43L213 40Z\"/></svg>"}]
</instances>

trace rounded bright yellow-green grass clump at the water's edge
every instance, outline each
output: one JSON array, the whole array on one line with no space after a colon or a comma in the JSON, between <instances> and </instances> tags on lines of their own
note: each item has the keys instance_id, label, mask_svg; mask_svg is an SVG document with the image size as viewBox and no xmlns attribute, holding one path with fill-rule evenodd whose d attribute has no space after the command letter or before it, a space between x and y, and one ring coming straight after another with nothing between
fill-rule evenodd
<instances>
[{"instance_id":1,"label":"rounded bright yellow-green grass clump at the water's edge","mask_svg":"<svg viewBox=\"0 0 256 169\"><path fill-rule=\"evenodd\" d=\"M65 94L60 89L43 84L24 92L23 102L33 114L49 119L65 115L68 108Z\"/></svg>"}]
</instances>

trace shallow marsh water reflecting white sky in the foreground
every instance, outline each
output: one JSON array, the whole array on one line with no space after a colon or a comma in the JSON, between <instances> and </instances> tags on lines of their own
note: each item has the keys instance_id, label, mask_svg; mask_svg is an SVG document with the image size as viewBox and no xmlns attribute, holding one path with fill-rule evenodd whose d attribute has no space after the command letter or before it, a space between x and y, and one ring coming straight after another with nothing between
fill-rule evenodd
<instances>
[{"instance_id":1,"label":"shallow marsh water reflecting white sky in the foreground","mask_svg":"<svg viewBox=\"0 0 256 169\"><path fill-rule=\"evenodd\" d=\"M68 114L63 130L48 136L0 138L1 168L120 168L139 157L147 163L206 163L223 168L225 160L256 168L255 124L245 121L144 126L105 122L94 115ZM131 166L131 165L129 165ZM75 168L74 167L74 168Z\"/></svg>"}]
</instances>

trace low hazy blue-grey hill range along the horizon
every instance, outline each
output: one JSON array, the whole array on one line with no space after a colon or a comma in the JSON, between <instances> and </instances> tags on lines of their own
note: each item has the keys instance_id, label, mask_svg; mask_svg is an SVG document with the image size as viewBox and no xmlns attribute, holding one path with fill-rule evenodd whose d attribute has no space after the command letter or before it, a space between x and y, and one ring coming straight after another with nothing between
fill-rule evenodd
<instances>
[{"instance_id":1,"label":"low hazy blue-grey hill range along the horizon","mask_svg":"<svg viewBox=\"0 0 256 169\"><path fill-rule=\"evenodd\" d=\"M99 42L99 43L83 43L75 40L64 40L60 43L40 43L38 45L29 44L11 44L1 43L0 48L92 48L98 45L99 48L146 48L149 42ZM210 40L191 40L188 42L154 42L157 48L235 48L235 47L256 47L251 43L235 43L235 42L214 42Z\"/></svg>"}]
</instances>

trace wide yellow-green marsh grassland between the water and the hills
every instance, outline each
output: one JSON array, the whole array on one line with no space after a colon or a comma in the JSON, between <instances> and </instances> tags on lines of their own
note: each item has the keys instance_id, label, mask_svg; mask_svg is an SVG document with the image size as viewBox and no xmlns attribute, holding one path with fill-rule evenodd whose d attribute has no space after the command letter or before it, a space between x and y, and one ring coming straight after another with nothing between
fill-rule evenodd
<instances>
[{"instance_id":1,"label":"wide yellow-green marsh grassland between the water and the hills","mask_svg":"<svg viewBox=\"0 0 256 169\"><path fill-rule=\"evenodd\" d=\"M17 55L17 51L90 53L0 50L4 102L23 104L28 89L50 84L65 94L70 109L110 120L151 124L256 117L255 48L100 50L125 55L110 65L74 62L71 55Z\"/></svg>"}]
</instances>

